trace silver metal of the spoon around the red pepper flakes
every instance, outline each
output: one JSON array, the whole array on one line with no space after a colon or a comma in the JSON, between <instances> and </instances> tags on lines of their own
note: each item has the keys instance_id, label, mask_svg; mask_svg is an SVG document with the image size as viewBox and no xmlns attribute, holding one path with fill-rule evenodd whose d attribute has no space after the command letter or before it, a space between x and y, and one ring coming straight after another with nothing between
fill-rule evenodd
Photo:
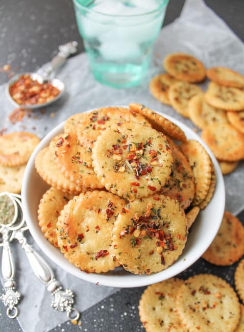
<instances>
[{"instance_id":1,"label":"silver metal of the spoon around the red pepper flakes","mask_svg":"<svg viewBox=\"0 0 244 332\"><path fill-rule=\"evenodd\" d=\"M78 43L76 41L71 41L67 44L60 45L58 55L56 57L54 57L51 60L51 62L48 63L47 66L45 66L45 68L43 70L39 69L38 73L21 73L21 74L17 74L14 77L12 77L6 86L6 94L7 94L9 101L15 107L25 107L25 108L30 108L30 109L44 107L44 106L47 106L47 105L50 105L50 104L56 102L59 98L61 98L63 96L64 91L65 91L65 85L61 80L59 80L57 78L51 78L51 75L67 61L67 58L70 55L75 54L77 52L77 47L78 47ZM40 84L48 82L48 83L52 84L53 86L55 86L60 92L55 98L53 98L52 100L50 100L46 103L19 105L11 97L9 89L10 89L10 86L13 85L22 75L30 75L31 79L37 80Z\"/></svg>"}]
</instances>

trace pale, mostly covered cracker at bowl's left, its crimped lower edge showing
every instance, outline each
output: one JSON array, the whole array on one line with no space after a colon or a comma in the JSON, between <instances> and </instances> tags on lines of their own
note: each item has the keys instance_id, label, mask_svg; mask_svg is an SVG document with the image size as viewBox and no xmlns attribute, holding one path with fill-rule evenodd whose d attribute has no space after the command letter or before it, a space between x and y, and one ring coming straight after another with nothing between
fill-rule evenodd
<instances>
[{"instance_id":1,"label":"pale, mostly covered cracker at bowl's left, its crimped lower edge showing","mask_svg":"<svg viewBox=\"0 0 244 332\"><path fill-rule=\"evenodd\" d=\"M54 155L49 148L44 148L38 152L35 159L35 167L40 177L62 192L69 192L72 194L79 194L86 191L87 188L78 186L76 183L66 179L60 172L55 160Z\"/></svg>"}]
</instances>

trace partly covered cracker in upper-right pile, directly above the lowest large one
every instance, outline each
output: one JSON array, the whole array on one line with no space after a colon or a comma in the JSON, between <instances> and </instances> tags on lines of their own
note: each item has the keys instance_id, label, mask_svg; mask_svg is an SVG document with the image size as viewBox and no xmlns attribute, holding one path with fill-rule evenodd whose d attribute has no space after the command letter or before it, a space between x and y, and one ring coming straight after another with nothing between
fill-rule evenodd
<instances>
[{"instance_id":1,"label":"partly covered cracker in upper-right pile, directly above the lowest large one","mask_svg":"<svg viewBox=\"0 0 244 332\"><path fill-rule=\"evenodd\" d=\"M188 112L190 120L200 129L215 123L228 123L226 112L207 104L202 94L191 98Z\"/></svg>"}]
</instances>

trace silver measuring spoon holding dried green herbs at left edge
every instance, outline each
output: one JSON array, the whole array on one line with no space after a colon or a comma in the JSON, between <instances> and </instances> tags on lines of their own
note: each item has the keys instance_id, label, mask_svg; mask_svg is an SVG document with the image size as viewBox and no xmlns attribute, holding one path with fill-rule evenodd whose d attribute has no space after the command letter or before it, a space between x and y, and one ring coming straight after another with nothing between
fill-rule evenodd
<instances>
[{"instance_id":1,"label":"silver measuring spoon holding dried green herbs at left edge","mask_svg":"<svg viewBox=\"0 0 244 332\"><path fill-rule=\"evenodd\" d=\"M15 225L17 222L17 225ZM17 228L22 227L25 219L18 215L16 201L7 192L0 193L0 232L3 235L2 273L4 277L5 294L0 296L4 305L7 306L7 315L9 318L15 318L18 315L16 305L20 299L20 293L15 291L15 265L10 248L10 234Z\"/></svg>"}]
</instances>

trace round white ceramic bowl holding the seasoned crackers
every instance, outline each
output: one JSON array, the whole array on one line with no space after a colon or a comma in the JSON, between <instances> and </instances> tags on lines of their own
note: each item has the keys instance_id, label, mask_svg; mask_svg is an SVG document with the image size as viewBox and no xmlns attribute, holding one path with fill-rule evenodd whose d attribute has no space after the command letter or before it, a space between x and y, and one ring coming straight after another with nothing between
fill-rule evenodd
<instances>
[{"instance_id":1,"label":"round white ceramic bowl holding the seasoned crackers","mask_svg":"<svg viewBox=\"0 0 244 332\"><path fill-rule=\"evenodd\" d=\"M172 266L168 267L166 270L152 275L131 274L122 268L116 268L114 271L108 273L87 274L69 263L63 254L44 238L38 225L37 209L40 199L48 188L48 185L37 174L34 162L37 153L41 149L48 146L50 140L54 136L63 131L64 123L61 123L41 140L33 152L23 176L21 195L26 222L34 240L41 248L41 250L62 269L75 275L78 278L104 286L120 288L147 286L149 284L173 277L187 269L190 265L196 262L199 257L201 257L201 255L213 241L221 224L225 208L225 186L221 170L219 169L218 163L211 151L196 133L174 118L166 114L163 114L163 116L180 126L188 139L196 139L200 141L200 143L205 147L210 157L212 158L216 172L216 188L212 200L205 208L205 210L200 212L196 222L194 222L193 226L191 227L183 253Z\"/></svg>"}]
</instances>

